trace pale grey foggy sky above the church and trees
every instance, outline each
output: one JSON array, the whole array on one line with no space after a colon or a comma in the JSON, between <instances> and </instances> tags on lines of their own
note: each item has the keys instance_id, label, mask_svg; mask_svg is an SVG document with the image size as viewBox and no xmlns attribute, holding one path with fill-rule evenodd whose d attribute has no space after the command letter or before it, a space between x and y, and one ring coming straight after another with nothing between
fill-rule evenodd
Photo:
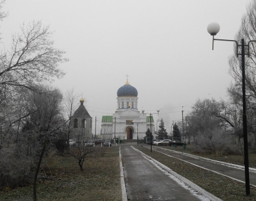
<instances>
[{"instance_id":1,"label":"pale grey foggy sky above the church and trees","mask_svg":"<svg viewBox=\"0 0 256 201\"><path fill-rule=\"evenodd\" d=\"M249 2L7 0L0 46L8 50L23 23L41 20L69 59L59 66L66 76L52 85L62 92L74 87L79 99L83 94L94 123L97 117L97 134L102 115L116 110L127 74L138 91L139 110L159 108L155 122L163 117L170 132L170 122L182 119L182 106L185 115L197 99L227 100L233 44L215 41L212 51L207 26L218 22L215 38L234 39Z\"/></svg>"}]
</instances>

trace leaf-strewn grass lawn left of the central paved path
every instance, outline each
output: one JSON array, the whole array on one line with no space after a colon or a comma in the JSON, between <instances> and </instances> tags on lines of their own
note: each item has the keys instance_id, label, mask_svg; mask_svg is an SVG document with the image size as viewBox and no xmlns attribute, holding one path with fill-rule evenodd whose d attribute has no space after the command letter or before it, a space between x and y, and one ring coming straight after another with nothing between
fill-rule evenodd
<instances>
[{"instance_id":1,"label":"leaf-strewn grass lawn left of the central paved path","mask_svg":"<svg viewBox=\"0 0 256 201\"><path fill-rule=\"evenodd\" d=\"M47 159L52 176L37 184L37 200L122 200L119 147L104 149L103 157L87 158L82 173L71 155ZM32 185L5 189L0 200L32 200L32 192Z\"/></svg>"}]
</instances>

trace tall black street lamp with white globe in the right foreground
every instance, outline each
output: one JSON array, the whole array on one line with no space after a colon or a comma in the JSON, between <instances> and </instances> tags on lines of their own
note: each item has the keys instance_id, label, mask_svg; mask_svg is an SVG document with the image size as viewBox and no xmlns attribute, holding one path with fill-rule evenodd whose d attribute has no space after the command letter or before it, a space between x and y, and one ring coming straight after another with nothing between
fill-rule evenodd
<instances>
[{"instance_id":1,"label":"tall black street lamp with white globe in the right foreground","mask_svg":"<svg viewBox=\"0 0 256 201\"><path fill-rule=\"evenodd\" d=\"M250 42L245 44L244 39L241 39L241 45L235 40L215 39L214 36L220 31L220 25L216 22L212 22L207 26L207 31L212 35L212 50L214 50L214 41L232 41L237 46L237 57L242 56L242 96L243 96L243 128L244 128L244 165L245 165L245 190L246 195L250 195L250 179L249 179L249 156L248 156L248 139L247 139L247 114L246 114L246 101L245 101L245 54L250 56ZM241 53L239 53L239 47L241 47ZM245 53L245 47L247 52Z\"/></svg>"}]
</instances>

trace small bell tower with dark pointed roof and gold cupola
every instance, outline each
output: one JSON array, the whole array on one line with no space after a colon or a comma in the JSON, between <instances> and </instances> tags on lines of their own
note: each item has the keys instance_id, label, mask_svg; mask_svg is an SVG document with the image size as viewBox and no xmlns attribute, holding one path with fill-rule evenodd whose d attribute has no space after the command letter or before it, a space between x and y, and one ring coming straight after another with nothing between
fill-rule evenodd
<instances>
[{"instance_id":1,"label":"small bell tower with dark pointed roof and gold cupola","mask_svg":"<svg viewBox=\"0 0 256 201\"><path fill-rule=\"evenodd\" d=\"M80 99L80 105L71 117L71 139L76 142L85 142L92 139L92 117L84 107L84 99Z\"/></svg>"}]
</instances>

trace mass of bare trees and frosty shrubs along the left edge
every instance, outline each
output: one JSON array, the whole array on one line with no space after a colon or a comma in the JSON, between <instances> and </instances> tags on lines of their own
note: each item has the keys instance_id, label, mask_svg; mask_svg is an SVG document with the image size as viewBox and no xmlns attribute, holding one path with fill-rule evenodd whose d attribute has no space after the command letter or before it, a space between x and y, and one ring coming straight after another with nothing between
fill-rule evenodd
<instances>
[{"instance_id":1,"label":"mass of bare trees and frosty shrubs along the left edge","mask_svg":"<svg viewBox=\"0 0 256 201\"><path fill-rule=\"evenodd\" d=\"M0 20L7 16L3 4ZM51 36L49 26L34 21L0 52L0 190L35 182L41 156L66 144L74 96L67 94L65 107L62 92L49 85L64 76L59 64L68 61Z\"/></svg>"}]
</instances>

